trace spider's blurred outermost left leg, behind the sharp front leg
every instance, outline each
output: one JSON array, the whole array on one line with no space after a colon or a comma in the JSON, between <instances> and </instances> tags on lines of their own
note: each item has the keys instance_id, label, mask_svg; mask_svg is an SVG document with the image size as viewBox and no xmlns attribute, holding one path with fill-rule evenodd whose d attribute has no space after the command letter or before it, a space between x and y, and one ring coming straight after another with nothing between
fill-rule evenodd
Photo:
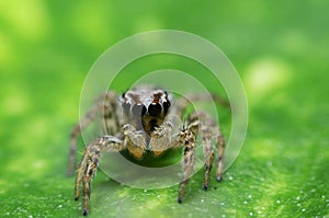
<instances>
[{"instance_id":1,"label":"spider's blurred outermost left leg, behind the sharp front leg","mask_svg":"<svg viewBox=\"0 0 329 218\"><path fill-rule=\"evenodd\" d=\"M91 122L93 122L97 116L103 115L104 122L102 122L103 134L114 134L112 130L107 129L107 126L116 127L118 125L109 124L112 118L113 112L115 108L113 104L115 102L115 93L107 92L105 96L100 97L97 104L91 107L91 110L86 114L86 116L78 123L70 133L70 151L69 151L69 164L67 169L67 174L72 175L76 169L77 162L77 141L78 137L81 135L81 131L87 128ZM117 123L117 122L116 122ZM115 129L116 130L116 129Z\"/></svg>"}]
</instances>

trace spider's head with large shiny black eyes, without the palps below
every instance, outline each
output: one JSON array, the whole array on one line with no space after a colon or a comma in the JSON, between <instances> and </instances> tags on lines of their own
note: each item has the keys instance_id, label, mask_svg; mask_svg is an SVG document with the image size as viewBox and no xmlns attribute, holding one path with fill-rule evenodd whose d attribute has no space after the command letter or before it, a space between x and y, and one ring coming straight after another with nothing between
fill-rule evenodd
<instances>
[{"instance_id":1,"label":"spider's head with large shiny black eyes, without the palps below","mask_svg":"<svg viewBox=\"0 0 329 218\"><path fill-rule=\"evenodd\" d=\"M136 129L149 134L163 123L171 106L171 95L160 89L143 87L123 93L121 104Z\"/></svg>"}]
</instances>

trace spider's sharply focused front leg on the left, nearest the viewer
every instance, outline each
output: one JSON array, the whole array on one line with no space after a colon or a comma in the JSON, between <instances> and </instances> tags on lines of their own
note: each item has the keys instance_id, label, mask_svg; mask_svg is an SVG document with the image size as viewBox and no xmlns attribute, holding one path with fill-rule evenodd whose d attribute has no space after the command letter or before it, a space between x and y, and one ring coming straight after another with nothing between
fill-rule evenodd
<instances>
[{"instance_id":1,"label":"spider's sharply focused front leg on the left, nearest the viewer","mask_svg":"<svg viewBox=\"0 0 329 218\"><path fill-rule=\"evenodd\" d=\"M90 198L90 183L94 177L99 162L101 159L101 152L106 151L121 151L124 149L122 140L112 137L103 136L91 142L83 151L83 157L79 169L77 171L76 187L75 187L75 199L79 199L79 190L82 184L82 214L88 215L88 203Z\"/></svg>"}]
</instances>

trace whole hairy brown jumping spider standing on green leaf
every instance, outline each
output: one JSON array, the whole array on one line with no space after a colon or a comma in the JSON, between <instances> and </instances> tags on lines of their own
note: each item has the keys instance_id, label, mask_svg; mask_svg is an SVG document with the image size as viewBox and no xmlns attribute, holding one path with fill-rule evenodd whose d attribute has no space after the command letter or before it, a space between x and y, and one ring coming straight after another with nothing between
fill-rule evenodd
<instances>
[{"instance_id":1,"label":"whole hairy brown jumping spider standing on green leaf","mask_svg":"<svg viewBox=\"0 0 329 218\"><path fill-rule=\"evenodd\" d=\"M214 160L213 140L217 147L216 180L222 181L223 156L225 140L217 122L207 113L193 112L186 118L179 133L173 130L173 122L169 114L182 117L189 105L188 97L173 100L173 96L161 90L150 87L137 87L121 96L109 91L89 113L77 124L70 135L70 162L68 173L72 174L76 164L77 138L98 114L102 113L104 136L90 142L84 151L77 171L75 197L79 198L82 184L82 213L88 215L90 198L90 183L99 167L101 152L118 152L128 150L133 157L141 159L146 151L159 157L170 148L183 148L182 180L179 185L178 202L182 203L185 186L193 172L195 157L195 138L201 136L205 158L203 188L208 188L211 169ZM191 95L190 100L200 100L203 96ZM224 101L214 95L218 103Z\"/></svg>"}]
</instances>

